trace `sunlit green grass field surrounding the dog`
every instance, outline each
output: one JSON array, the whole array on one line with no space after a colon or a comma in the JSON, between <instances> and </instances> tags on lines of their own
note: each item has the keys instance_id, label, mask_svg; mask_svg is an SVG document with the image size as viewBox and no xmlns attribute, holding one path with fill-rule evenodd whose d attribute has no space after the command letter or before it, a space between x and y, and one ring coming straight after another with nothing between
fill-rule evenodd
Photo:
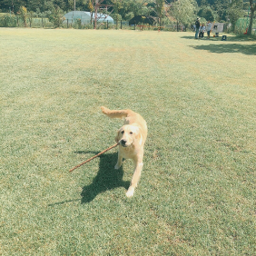
<instances>
[{"instance_id":1,"label":"sunlit green grass field surrounding the dog","mask_svg":"<svg viewBox=\"0 0 256 256\"><path fill-rule=\"evenodd\" d=\"M256 44L0 28L1 255L256 255ZM148 123L143 174L114 143Z\"/></svg>"}]
</instances>

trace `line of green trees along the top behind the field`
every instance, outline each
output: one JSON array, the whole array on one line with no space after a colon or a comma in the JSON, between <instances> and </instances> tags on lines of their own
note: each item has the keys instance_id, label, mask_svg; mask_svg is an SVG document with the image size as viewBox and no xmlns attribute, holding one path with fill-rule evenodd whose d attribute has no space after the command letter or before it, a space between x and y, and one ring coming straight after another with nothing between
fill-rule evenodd
<instances>
[{"instance_id":1,"label":"line of green trees along the top behind the field","mask_svg":"<svg viewBox=\"0 0 256 256\"><path fill-rule=\"evenodd\" d=\"M102 9L109 12L116 20L130 20L136 15L150 15L159 23L168 23L172 17L178 24L192 25L196 16L202 22L208 20L215 22L228 22L234 28L240 17L251 15L248 33L252 26L255 1L248 0L0 0L0 12L20 14L21 7L27 12L37 15L62 15L74 9L79 11L94 12L96 3L108 8ZM173 21L173 20L172 20Z\"/></svg>"}]
</instances>

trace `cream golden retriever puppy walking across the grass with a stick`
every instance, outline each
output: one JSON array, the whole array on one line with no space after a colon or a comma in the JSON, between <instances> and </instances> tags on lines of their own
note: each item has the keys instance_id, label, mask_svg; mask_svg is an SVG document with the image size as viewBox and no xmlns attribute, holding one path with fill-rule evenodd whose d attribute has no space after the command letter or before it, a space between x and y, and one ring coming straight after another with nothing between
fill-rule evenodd
<instances>
[{"instance_id":1,"label":"cream golden retriever puppy walking across the grass with a stick","mask_svg":"<svg viewBox=\"0 0 256 256\"><path fill-rule=\"evenodd\" d=\"M143 146L147 138L147 123L139 113L130 109L109 110L101 107L104 114L110 118L124 118L123 126L118 130L115 142L119 143L118 160L115 169L122 165L123 158L132 159L134 162L133 179L127 197L132 197L137 186L143 169Z\"/></svg>"}]
</instances>

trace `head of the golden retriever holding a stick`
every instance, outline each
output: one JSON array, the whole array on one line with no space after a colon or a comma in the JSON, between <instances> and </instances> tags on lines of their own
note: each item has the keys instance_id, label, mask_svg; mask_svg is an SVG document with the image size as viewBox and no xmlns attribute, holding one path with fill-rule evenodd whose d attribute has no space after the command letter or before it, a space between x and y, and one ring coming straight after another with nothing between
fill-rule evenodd
<instances>
[{"instance_id":1,"label":"head of the golden retriever holding a stick","mask_svg":"<svg viewBox=\"0 0 256 256\"><path fill-rule=\"evenodd\" d=\"M129 147L138 139L139 130L137 126L125 124L118 130L114 140L123 147Z\"/></svg>"}]
</instances>

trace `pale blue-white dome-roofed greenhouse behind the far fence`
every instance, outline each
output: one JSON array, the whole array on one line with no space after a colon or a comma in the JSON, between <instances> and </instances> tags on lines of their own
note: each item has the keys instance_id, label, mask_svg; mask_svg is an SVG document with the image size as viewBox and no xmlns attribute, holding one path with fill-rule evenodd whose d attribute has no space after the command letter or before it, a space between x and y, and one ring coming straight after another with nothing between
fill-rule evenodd
<instances>
[{"instance_id":1,"label":"pale blue-white dome-roofed greenhouse behind the far fence","mask_svg":"<svg viewBox=\"0 0 256 256\"><path fill-rule=\"evenodd\" d=\"M72 24L77 21L77 19L81 19L81 24L89 24L91 22L91 13L84 11L73 11L64 15L64 24L69 23ZM93 13L94 20L94 13ZM97 14L97 22L109 22L113 24L113 18L110 15Z\"/></svg>"}]
</instances>

